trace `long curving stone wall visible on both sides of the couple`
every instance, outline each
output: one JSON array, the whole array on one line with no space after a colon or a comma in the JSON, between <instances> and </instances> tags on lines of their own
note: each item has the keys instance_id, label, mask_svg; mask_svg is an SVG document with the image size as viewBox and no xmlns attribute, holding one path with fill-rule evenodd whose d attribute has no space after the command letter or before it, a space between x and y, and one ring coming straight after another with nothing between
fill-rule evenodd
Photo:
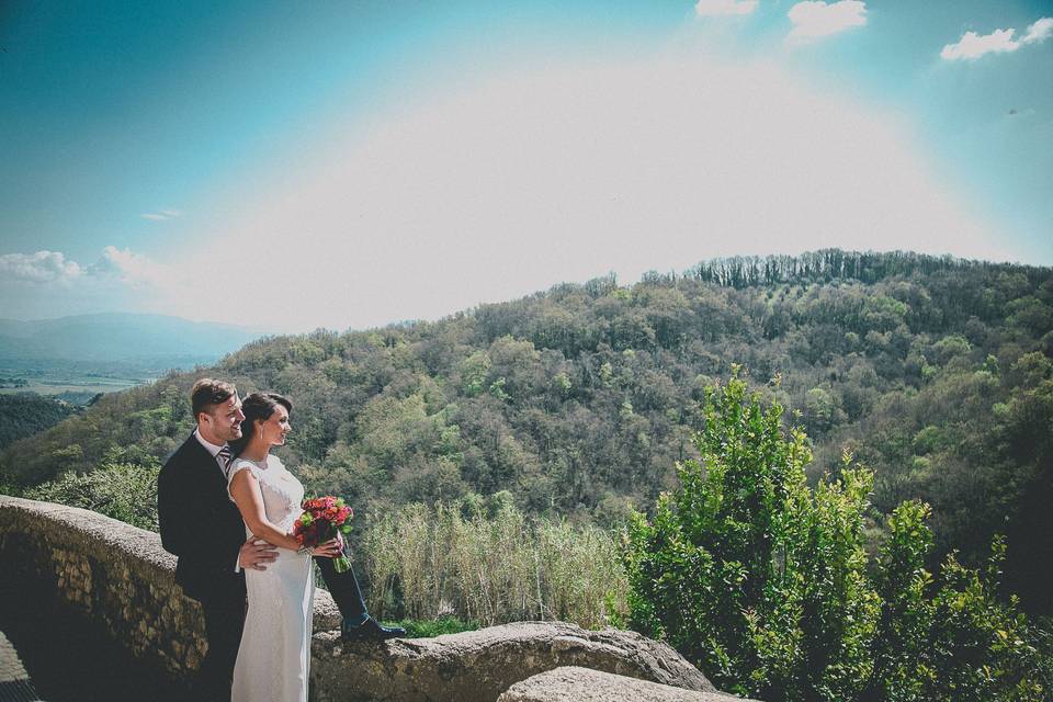
<instances>
[{"instance_id":1,"label":"long curving stone wall visible on both sides of the couple","mask_svg":"<svg viewBox=\"0 0 1053 702\"><path fill-rule=\"evenodd\" d=\"M0 564L5 597L59 605L176 681L189 681L202 660L201 610L176 585L176 557L152 532L83 509L0 495ZM724 697L675 650L633 632L528 622L346 646L332 631L339 621L332 598L319 590L312 645L315 700L494 702L513 683L562 666Z\"/></svg>"}]
</instances>

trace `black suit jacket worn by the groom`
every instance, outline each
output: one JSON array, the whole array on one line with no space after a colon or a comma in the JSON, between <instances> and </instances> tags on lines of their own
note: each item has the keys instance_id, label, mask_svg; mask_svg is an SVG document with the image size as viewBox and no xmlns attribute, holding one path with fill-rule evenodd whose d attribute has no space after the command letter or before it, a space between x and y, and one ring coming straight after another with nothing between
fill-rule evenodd
<instances>
[{"instance_id":1,"label":"black suit jacket worn by the groom","mask_svg":"<svg viewBox=\"0 0 1053 702\"><path fill-rule=\"evenodd\" d=\"M178 556L176 582L202 603L240 607L245 575L235 570L245 522L227 496L215 457L191 434L157 479L161 545Z\"/></svg>"}]
</instances>

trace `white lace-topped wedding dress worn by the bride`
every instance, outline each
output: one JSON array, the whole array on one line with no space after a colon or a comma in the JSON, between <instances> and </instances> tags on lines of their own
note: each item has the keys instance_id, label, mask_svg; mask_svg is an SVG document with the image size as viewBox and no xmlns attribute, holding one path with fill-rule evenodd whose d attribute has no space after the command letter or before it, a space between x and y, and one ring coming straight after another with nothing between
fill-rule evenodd
<instances>
[{"instance_id":1,"label":"white lace-topped wedding dress worn by the bride","mask_svg":"<svg viewBox=\"0 0 1053 702\"><path fill-rule=\"evenodd\" d=\"M299 480L273 455L260 463L237 458L227 475L228 486L240 471L251 471L260 482L268 521L292 531L303 513ZM267 570L245 571L249 610L234 667L233 702L307 702L313 575L310 556L288 548L279 548Z\"/></svg>"}]
</instances>

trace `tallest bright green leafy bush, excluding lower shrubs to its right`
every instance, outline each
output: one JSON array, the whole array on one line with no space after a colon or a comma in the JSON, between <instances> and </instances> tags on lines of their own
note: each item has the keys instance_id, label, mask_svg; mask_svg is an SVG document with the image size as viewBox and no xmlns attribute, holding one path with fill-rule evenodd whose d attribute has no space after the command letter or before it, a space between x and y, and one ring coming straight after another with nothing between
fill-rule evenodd
<instances>
[{"instance_id":1,"label":"tallest bright green leafy bush, excluding lower shrubs to its right","mask_svg":"<svg viewBox=\"0 0 1053 702\"><path fill-rule=\"evenodd\" d=\"M879 610L861 544L871 477L846 463L809 490L805 435L784 438L781 416L738 377L709 395L701 457L633 521L632 615L733 691L850 699Z\"/></svg>"}]
</instances>

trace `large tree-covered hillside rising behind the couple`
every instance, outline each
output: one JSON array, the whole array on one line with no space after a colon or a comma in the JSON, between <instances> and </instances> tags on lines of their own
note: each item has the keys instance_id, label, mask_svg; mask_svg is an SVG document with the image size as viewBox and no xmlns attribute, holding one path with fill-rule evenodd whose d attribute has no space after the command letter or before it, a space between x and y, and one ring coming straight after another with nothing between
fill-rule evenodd
<instances>
[{"instance_id":1,"label":"large tree-covered hillside rising behind the couple","mask_svg":"<svg viewBox=\"0 0 1053 702\"><path fill-rule=\"evenodd\" d=\"M722 259L435 322L257 341L15 443L0 479L161 460L191 429L191 383L211 374L287 394L283 460L366 520L507 489L529 511L605 525L675 486L704 388L741 365L806 430L813 478L845 450L875 472L875 537L910 497L932 505L935 558L974 562L1006 533L1011 589L1050 613L1051 355L1051 269L838 250Z\"/></svg>"}]
</instances>

